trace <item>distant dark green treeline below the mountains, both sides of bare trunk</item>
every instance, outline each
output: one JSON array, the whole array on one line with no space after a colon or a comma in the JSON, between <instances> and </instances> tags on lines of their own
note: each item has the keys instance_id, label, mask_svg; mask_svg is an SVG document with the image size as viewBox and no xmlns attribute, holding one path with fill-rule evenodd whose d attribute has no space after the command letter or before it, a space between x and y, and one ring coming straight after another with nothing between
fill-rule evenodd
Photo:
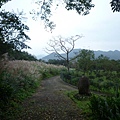
<instances>
[{"instance_id":1,"label":"distant dark green treeline below the mountains, both sides of bare trunk","mask_svg":"<svg viewBox=\"0 0 120 120\"><path fill-rule=\"evenodd\" d=\"M46 63L67 66L65 60L50 59ZM111 60L102 54L98 56L98 58L95 58L94 51L83 49L76 57L70 59L69 66L72 69L74 68L77 71L83 71L84 73L93 70L120 71L120 60Z\"/></svg>"}]
</instances>

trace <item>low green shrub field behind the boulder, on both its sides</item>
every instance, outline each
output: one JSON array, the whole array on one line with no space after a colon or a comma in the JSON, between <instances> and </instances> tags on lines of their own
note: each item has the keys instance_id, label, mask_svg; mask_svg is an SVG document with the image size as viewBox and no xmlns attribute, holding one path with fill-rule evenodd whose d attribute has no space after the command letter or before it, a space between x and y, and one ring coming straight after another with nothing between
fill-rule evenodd
<instances>
[{"instance_id":1,"label":"low green shrub field behind the boulder, on both its sides","mask_svg":"<svg viewBox=\"0 0 120 120\"><path fill-rule=\"evenodd\" d=\"M78 81L83 74L83 72L75 70L69 72L62 71L61 79L71 85L78 86ZM110 76L109 79L108 76ZM93 71L89 72L87 77L90 79L90 90L111 94L113 96L120 95L119 72Z\"/></svg>"}]
</instances>

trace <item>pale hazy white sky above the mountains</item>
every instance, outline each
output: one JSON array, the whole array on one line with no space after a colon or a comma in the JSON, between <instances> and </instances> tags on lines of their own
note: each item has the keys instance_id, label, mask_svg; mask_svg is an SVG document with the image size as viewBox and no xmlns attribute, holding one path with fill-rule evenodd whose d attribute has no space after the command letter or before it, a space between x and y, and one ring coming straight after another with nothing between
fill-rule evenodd
<instances>
[{"instance_id":1,"label":"pale hazy white sky above the mountains","mask_svg":"<svg viewBox=\"0 0 120 120\"><path fill-rule=\"evenodd\" d=\"M58 8L52 19L56 23L53 32L47 32L41 20L32 20L29 14L35 6L34 0L12 0L4 8L6 10L24 10L28 19L26 23L30 31L27 33L31 41L27 44L32 48L27 50L33 55L45 55L44 48L52 36L61 35L70 37L83 35L76 42L75 48L91 50L120 50L120 13L113 13L110 7L111 0L93 0L95 7L89 15L78 15L75 11Z\"/></svg>"}]
</instances>

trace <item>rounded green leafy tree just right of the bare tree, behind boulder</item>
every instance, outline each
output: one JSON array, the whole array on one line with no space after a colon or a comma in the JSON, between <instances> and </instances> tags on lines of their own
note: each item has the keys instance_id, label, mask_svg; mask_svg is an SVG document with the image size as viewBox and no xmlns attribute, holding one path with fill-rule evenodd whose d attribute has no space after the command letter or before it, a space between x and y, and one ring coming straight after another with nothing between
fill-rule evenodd
<instances>
[{"instance_id":1,"label":"rounded green leafy tree just right of the bare tree, behind boulder","mask_svg":"<svg viewBox=\"0 0 120 120\"><path fill-rule=\"evenodd\" d=\"M81 50L76 56L78 69L83 70L84 74L91 70L92 60L94 60L94 52L92 50Z\"/></svg>"}]
</instances>

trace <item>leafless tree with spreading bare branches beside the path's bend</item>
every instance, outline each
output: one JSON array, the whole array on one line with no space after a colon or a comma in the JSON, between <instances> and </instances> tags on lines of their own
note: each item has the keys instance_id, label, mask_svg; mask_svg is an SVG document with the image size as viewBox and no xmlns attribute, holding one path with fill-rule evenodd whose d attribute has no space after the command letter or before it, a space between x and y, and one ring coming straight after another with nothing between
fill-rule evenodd
<instances>
[{"instance_id":1,"label":"leafless tree with spreading bare branches beside the path's bend","mask_svg":"<svg viewBox=\"0 0 120 120\"><path fill-rule=\"evenodd\" d=\"M80 39L81 37L82 36L80 35L71 36L70 38L63 38L61 36L53 37L48 43L50 49L45 49L47 50L47 52L55 52L56 57L65 60L67 64L67 69L69 71L69 53L74 49L75 41ZM65 53L66 56L62 56L61 53Z\"/></svg>"}]
</instances>

